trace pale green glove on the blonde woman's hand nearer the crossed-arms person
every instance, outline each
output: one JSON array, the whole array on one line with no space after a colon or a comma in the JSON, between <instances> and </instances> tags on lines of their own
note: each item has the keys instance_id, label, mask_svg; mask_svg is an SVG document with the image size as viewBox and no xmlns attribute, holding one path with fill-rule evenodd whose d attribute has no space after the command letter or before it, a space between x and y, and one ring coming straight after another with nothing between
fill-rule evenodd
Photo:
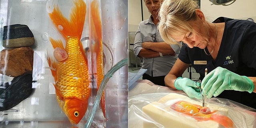
<instances>
[{"instance_id":1,"label":"pale green glove on the blonde woman's hand nearer the crossed-arms person","mask_svg":"<svg viewBox=\"0 0 256 128\"><path fill-rule=\"evenodd\" d=\"M189 78L178 77L174 81L174 87L178 90L183 90L190 98L202 99L199 82L190 80ZM197 89L198 88L198 89Z\"/></svg>"}]
</instances>

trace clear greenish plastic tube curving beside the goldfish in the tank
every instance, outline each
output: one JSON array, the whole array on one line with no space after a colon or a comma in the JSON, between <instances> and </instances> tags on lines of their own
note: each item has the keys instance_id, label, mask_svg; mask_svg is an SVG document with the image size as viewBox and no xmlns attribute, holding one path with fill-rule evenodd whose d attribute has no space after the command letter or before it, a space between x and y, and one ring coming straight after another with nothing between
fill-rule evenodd
<instances>
[{"instance_id":1,"label":"clear greenish plastic tube curving beside the goldfish in the tank","mask_svg":"<svg viewBox=\"0 0 256 128\"><path fill-rule=\"evenodd\" d=\"M107 74L104 76L101 84L100 84L100 88L98 90L98 93L96 95L96 100L94 102L93 108L92 108L92 113L90 114L86 125L84 126L84 128L90 128L91 124L92 124L92 120L94 118L94 115L96 113L96 110L99 106L100 103L100 98L102 96L102 92L104 90L104 87L106 85L106 83L108 82L108 80L112 77L112 75L119 70L122 66L128 64L128 58L124 58L123 60L120 60L120 62L118 62L116 65L114 65L108 72Z\"/></svg>"}]
</instances>

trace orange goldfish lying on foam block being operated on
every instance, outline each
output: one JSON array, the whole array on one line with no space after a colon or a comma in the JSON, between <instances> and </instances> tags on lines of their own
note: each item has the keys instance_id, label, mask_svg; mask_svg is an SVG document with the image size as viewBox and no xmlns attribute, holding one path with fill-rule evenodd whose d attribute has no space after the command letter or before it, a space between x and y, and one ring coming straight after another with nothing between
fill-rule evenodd
<instances>
[{"instance_id":1,"label":"orange goldfish lying on foam block being operated on","mask_svg":"<svg viewBox=\"0 0 256 128\"><path fill-rule=\"evenodd\" d=\"M216 111L207 112L207 114L206 114L201 111L201 109L204 109L204 108L202 108L202 106L197 105L197 104L192 104L192 103L189 103L186 101L178 101L178 102L172 104L172 106L170 106L170 108L172 108L173 110L175 110L177 112L181 112L183 114L191 116L198 121L213 120L215 122L218 122L225 128L234 128L233 121L230 118L228 118L227 116L223 116L221 114L214 114Z\"/></svg>"}]
</instances>

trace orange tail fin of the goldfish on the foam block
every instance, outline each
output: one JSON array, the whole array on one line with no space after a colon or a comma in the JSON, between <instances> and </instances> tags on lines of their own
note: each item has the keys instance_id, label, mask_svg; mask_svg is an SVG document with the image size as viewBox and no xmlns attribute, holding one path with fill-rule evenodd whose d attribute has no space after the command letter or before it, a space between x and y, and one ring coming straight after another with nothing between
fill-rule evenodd
<instances>
[{"instance_id":1,"label":"orange tail fin of the goldfish on the foam block","mask_svg":"<svg viewBox=\"0 0 256 128\"><path fill-rule=\"evenodd\" d=\"M211 120L218 122L225 128L235 128L233 121L227 116L221 114L212 114L210 117Z\"/></svg>"}]
</instances>

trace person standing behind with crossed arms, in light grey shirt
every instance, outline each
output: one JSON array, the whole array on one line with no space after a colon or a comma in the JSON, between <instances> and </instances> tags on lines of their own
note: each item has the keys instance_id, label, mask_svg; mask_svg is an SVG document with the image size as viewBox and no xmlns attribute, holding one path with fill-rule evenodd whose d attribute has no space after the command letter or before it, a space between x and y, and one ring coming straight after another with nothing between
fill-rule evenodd
<instances>
[{"instance_id":1,"label":"person standing behind with crossed arms, in light grey shirt","mask_svg":"<svg viewBox=\"0 0 256 128\"><path fill-rule=\"evenodd\" d=\"M158 31L158 10L161 0L144 0L151 16L140 22L134 40L134 54L143 58L142 67L147 71L142 79L165 86L164 77L178 58L181 45L165 43Z\"/></svg>"}]
</instances>

